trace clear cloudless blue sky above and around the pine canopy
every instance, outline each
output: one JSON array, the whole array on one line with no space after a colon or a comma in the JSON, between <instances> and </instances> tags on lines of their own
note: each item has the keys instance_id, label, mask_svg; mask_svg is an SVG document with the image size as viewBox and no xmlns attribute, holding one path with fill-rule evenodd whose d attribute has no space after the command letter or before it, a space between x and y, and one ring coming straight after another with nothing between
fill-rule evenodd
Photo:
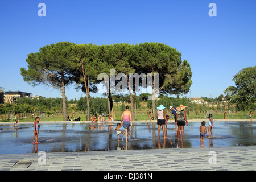
<instances>
[{"instance_id":1,"label":"clear cloudless blue sky above and around the pine canopy","mask_svg":"<svg viewBox=\"0 0 256 182\"><path fill-rule=\"evenodd\" d=\"M216 17L208 15L212 2ZM39 3L46 4L46 17L38 16ZM255 9L254 0L1 0L0 87L61 97L59 90L32 87L20 75L20 68L27 69L27 55L47 44L158 42L176 48L190 63L193 84L187 97L215 98L234 85L236 73L256 63ZM85 94L71 85L66 96Z\"/></svg>"}]
</instances>

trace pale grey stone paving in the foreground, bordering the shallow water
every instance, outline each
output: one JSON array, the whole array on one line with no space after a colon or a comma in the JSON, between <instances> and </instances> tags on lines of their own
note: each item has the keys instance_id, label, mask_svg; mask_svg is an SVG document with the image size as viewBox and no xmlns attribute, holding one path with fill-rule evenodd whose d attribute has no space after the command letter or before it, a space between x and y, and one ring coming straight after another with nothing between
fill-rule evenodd
<instances>
[{"instance_id":1,"label":"pale grey stone paving in the foreground, bordering the shallow water","mask_svg":"<svg viewBox=\"0 0 256 182\"><path fill-rule=\"evenodd\" d=\"M40 153L39 153L40 154ZM0 155L1 171L256 170L256 146ZM216 163L213 160L216 157Z\"/></svg>"}]
</instances>

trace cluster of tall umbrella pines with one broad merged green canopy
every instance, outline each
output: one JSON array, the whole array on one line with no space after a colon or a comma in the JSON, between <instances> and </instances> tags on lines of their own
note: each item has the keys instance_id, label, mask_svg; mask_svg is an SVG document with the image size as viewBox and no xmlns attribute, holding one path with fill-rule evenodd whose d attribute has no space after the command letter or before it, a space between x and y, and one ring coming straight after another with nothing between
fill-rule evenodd
<instances>
[{"instance_id":1,"label":"cluster of tall umbrella pines with one broad merged green canopy","mask_svg":"<svg viewBox=\"0 0 256 182\"><path fill-rule=\"evenodd\" d=\"M110 69L115 69L115 75L123 73L127 80L127 90L131 102L131 113L136 114L136 93L138 88L130 83L130 73L152 74L152 97L155 94L186 94L192 84L192 72L187 60L181 60L181 53L175 48L163 43L113 44L97 46L94 44L75 44L59 42L44 46L39 52L30 53L26 58L28 69L21 68L24 81L36 86L45 84L61 90L63 120L67 121L67 98L65 86L76 83L77 88L86 94L86 113L89 121L90 93L97 92L97 84L101 73L105 78L108 113L113 107L113 90L119 82L112 81ZM155 90L155 73L158 73L159 88ZM115 76L114 75L114 76ZM123 79L125 79L123 78ZM134 99L133 99L134 93ZM134 101L135 102L134 102ZM155 100L152 100L152 111L156 110Z\"/></svg>"}]
</instances>

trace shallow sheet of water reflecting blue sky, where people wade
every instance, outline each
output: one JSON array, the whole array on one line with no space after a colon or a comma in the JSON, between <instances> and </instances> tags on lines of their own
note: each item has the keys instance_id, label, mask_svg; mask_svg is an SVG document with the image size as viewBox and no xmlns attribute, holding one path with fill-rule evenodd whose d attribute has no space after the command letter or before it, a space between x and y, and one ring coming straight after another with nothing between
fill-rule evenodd
<instances>
[{"instance_id":1,"label":"shallow sheet of water reflecting blue sky, where people wade","mask_svg":"<svg viewBox=\"0 0 256 182\"><path fill-rule=\"evenodd\" d=\"M200 122L191 122L184 127L184 140L177 139L175 124L170 122L166 130L167 139L157 134L156 123L134 123L130 127L129 142L119 134L117 123L64 123L40 124L39 143L32 145L33 127L20 124L0 126L0 154L19 154L38 151L74 152L109 150L146 150L157 148L200 147ZM208 126L207 126L208 127ZM121 130L124 131L123 127ZM246 146L256 144L256 126L252 122L216 122L213 138L205 138L205 147Z\"/></svg>"}]
</instances>

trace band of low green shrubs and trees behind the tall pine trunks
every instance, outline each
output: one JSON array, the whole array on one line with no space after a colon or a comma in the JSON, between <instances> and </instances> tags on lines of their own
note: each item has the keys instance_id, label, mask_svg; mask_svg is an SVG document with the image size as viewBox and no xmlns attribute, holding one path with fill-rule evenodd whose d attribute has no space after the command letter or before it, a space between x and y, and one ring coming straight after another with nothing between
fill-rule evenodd
<instances>
[{"instance_id":1,"label":"band of low green shrubs and trees behind the tall pine trunks","mask_svg":"<svg viewBox=\"0 0 256 182\"><path fill-rule=\"evenodd\" d=\"M152 111L152 100L148 100L148 95L142 93L139 96L137 96L136 100L136 107L137 110L140 110L141 108L141 102L147 103L147 110ZM241 111L239 107L236 106L236 104L232 104L229 102L229 100L226 100L226 98L223 99L223 95L221 94L219 97L216 98L207 98L202 97L205 101L208 102L206 104L203 102L202 104L196 104L195 102L192 102L190 98L183 97L180 98L179 95L177 97L168 97L164 96L163 94L159 95L159 100L156 100L156 105L164 105L166 106L166 110L168 113L168 107L174 106L179 107L181 104L188 106L187 113L193 112L195 115L206 113L207 111L210 112L223 112L225 109L226 111ZM130 105L130 96L129 94L120 94L120 95L112 95L113 101L118 103L122 102L121 105L118 105L118 107L115 107L117 112L121 112L125 110L125 103L129 103ZM134 100L134 95L133 95ZM228 102L224 102L228 101ZM135 103L135 101L134 101ZM75 105L73 105L75 104ZM227 107L225 107L225 105ZM82 113L86 113L87 110L87 100L86 97L80 97L79 100L67 100L67 106L68 106L68 112L74 111L81 111ZM96 116L100 114L106 114L108 115L108 100L107 98L103 97L91 97L89 100L89 106L90 106L90 114L94 114ZM121 106L121 107L120 107ZM249 108L250 109L250 108ZM248 109L247 109L248 110ZM39 98L39 99L32 99L32 98L26 98L22 97L19 100L17 100L14 104L6 103L6 104L0 104L0 115L3 119L3 115L5 115L4 118L7 118L9 121L11 119L11 114L14 115L16 113L20 113L20 117L36 117L40 116L44 113L44 117L47 115L58 115L63 114L63 108L62 108L62 99L61 98ZM169 112L170 113L170 112ZM136 115L137 116L137 115ZM135 116L135 119L137 119Z\"/></svg>"}]
</instances>

